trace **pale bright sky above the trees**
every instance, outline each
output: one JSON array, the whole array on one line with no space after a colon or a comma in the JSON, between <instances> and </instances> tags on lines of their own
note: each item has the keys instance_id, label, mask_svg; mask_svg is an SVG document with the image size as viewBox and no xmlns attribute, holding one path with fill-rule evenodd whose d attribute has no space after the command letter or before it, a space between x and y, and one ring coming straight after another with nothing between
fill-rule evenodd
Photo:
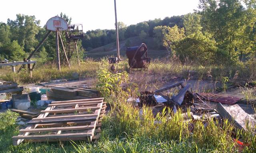
<instances>
[{"instance_id":1,"label":"pale bright sky above the trees","mask_svg":"<svg viewBox=\"0 0 256 153\"><path fill-rule=\"evenodd\" d=\"M199 0L116 0L117 20L127 26L139 22L194 12ZM2 0L0 22L16 19L16 14L34 15L44 26L60 12L83 24L84 32L114 29L114 0Z\"/></svg>"}]
</instances>

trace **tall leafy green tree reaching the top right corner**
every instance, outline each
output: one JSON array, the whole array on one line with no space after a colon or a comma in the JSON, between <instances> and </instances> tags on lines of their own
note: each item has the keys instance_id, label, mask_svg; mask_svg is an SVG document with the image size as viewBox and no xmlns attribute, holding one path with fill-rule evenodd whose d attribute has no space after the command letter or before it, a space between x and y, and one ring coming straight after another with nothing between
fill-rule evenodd
<instances>
[{"instance_id":1,"label":"tall leafy green tree reaching the top right corner","mask_svg":"<svg viewBox=\"0 0 256 153\"><path fill-rule=\"evenodd\" d=\"M255 18L248 22L248 10L255 10L254 0L244 0L251 6L244 8L241 0L200 0L203 32L212 34L218 48L226 51L233 62L241 51L250 52L252 43L248 34L252 32ZM248 5L249 6L249 5ZM255 12L255 11L254 11ZM240 51L240 52L239 52ZM228 59L227 59L228 60Z\"/></svg>"}]
</instances>

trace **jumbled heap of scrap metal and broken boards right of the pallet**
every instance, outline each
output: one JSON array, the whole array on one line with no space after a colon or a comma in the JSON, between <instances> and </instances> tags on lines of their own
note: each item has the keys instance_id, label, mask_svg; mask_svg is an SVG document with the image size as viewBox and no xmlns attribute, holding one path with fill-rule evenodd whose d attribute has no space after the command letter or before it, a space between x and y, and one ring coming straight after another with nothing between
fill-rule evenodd
<instances>
[{"instance_id":1,"label":"jumbled heap of scrap metal and broken boards right of the pallet","mask_svg":"<svg viewBox=\"0 0 256 153\"><path fill-rule=\"evenodd\" d=\"M173 88L178 90L176 94L170 97L164 94L167 90ZM246 129L246 121L255 125L256 120L253 115L246 113L240 105L236 104L241 99L239 97L224 97L212 93L193 93L189 84L186 85L185 81L180 81L154 92L143 92L140 98L137 99L137 103L139 106L152 106L154 115L161 112L164 106L167 106L172 108L174 113L176 113L177 108L185 112L190 110L190 112L186 112L184 115L186 116L190 113L194 120L200 120L203 117L217 120L228 119L238 129Z\"/></svg>"}]
</instances>

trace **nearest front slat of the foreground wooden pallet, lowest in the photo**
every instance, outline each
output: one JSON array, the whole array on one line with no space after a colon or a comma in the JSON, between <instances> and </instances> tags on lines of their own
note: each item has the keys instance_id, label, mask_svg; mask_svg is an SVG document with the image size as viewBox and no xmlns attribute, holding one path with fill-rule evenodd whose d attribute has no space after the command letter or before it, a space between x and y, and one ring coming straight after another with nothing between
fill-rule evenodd
<instances>
[{"instance_id":1,"label":"nearest front slat of the foreground wooden pallet, lowest in the photo","mask_svg":"<svg viewBox=\"0 0 256 153\"><path fill-rule=\"evenodd\" d=\"M26 140L36 140L36 139L58 139L66 138L72 139L72 137L88 137L92 136L90 132L84 133L66 133L66 134L46 134L46 135L20 135L12 137L13 140L26 139Z\"/></svg>"}]
</instances>

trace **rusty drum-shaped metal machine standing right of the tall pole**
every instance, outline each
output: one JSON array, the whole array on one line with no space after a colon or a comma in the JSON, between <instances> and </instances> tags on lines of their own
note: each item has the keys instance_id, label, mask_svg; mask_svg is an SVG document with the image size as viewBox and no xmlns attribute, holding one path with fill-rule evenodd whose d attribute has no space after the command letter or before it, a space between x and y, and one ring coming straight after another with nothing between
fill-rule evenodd
<instances>
[{"instance_id":1,"label":"rusty drum-shaped metal machine standing right of the tall pole","mask_svg":"<svg viewBox=\"0 0 256 153\"><path fill-rule=\"evenodd\" d=\"M148 48L144 43L140 44L140 46L128 47L126 56L128 57L130 68L147 68L150 64L147 52Z\"/></svg>"}]
</instances>

